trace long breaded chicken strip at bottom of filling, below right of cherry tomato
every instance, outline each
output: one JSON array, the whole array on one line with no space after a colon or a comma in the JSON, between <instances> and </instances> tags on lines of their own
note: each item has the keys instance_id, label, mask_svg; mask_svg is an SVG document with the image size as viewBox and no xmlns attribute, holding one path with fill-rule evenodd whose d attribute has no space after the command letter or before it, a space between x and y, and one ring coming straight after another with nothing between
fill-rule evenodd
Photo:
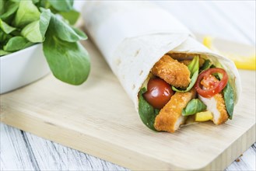
<instances>
[{"instance_id":1,"label":"long breaded chicken strip at bottom of filling, below right of cherry tomato","mask_svg":"<svg viewBox=\"0 0 256 171\"><path fill-rule=\"evenodd\" d=\"M186 117L181 115L188 102L195 98L195 89L189 92L176 92L171 96L170 101L163 106L156 116L154 127L157 131L176 131L181 124L184 124Z\"/></svg>"}]
</instances>

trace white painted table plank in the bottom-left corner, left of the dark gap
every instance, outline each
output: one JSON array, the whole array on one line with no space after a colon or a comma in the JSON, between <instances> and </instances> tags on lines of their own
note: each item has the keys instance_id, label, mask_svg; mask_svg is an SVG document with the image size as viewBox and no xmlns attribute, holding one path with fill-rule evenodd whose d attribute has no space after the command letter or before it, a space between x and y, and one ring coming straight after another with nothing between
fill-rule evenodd
<instances>
[{"instance_id":1,"label":"white painted table plank in the bottom-left corner, left of the dark gap","mask_svg":"<svg viewBox=\"0 0 256 171\"><path fill-rule=\"evenodd\" d=\"M23 139L22 131L0 123L1 170L33 170L37 165Z\"/></svg>"}]
</instances>

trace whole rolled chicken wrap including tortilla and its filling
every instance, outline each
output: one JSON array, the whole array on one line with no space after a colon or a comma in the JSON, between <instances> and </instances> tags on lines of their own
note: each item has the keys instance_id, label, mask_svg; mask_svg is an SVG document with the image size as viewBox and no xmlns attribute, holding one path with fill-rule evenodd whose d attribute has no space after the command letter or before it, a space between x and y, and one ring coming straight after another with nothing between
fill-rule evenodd
<instances>
[{"instance_id":1,"label":"whole rolled chicken wrap including tortilla and its filling","mask_svg":"<svg viewBox=\"0 0 256 171\"><path fill-rule=\"evenodd\" d=\"M174 132L191 122L232 119L237 68L169 12L150 2L89 1L82 17L147 127Z\"/></svg>"}]
</instances>

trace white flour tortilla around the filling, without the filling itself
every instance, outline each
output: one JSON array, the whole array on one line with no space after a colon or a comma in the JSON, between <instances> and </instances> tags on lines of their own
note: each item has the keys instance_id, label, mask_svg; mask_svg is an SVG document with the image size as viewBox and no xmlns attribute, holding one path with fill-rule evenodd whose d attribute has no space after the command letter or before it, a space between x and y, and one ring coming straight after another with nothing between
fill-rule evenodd
<instances>
[{"instance_id":1,"label":"white flour tortilla around the filling, without the filling itself","mask_svg":"<svg viewBox=\"0 0 256 171\"><path fill-rule=\"evenodd\" d=\"M89 1L82 9L89 37L100 49L138 111L138 93L164 54L200 54L220 63L233 80L235 99L240 76L233 61L200 44L174 16L150 2Z\"/></svg>"}]
</instances>

